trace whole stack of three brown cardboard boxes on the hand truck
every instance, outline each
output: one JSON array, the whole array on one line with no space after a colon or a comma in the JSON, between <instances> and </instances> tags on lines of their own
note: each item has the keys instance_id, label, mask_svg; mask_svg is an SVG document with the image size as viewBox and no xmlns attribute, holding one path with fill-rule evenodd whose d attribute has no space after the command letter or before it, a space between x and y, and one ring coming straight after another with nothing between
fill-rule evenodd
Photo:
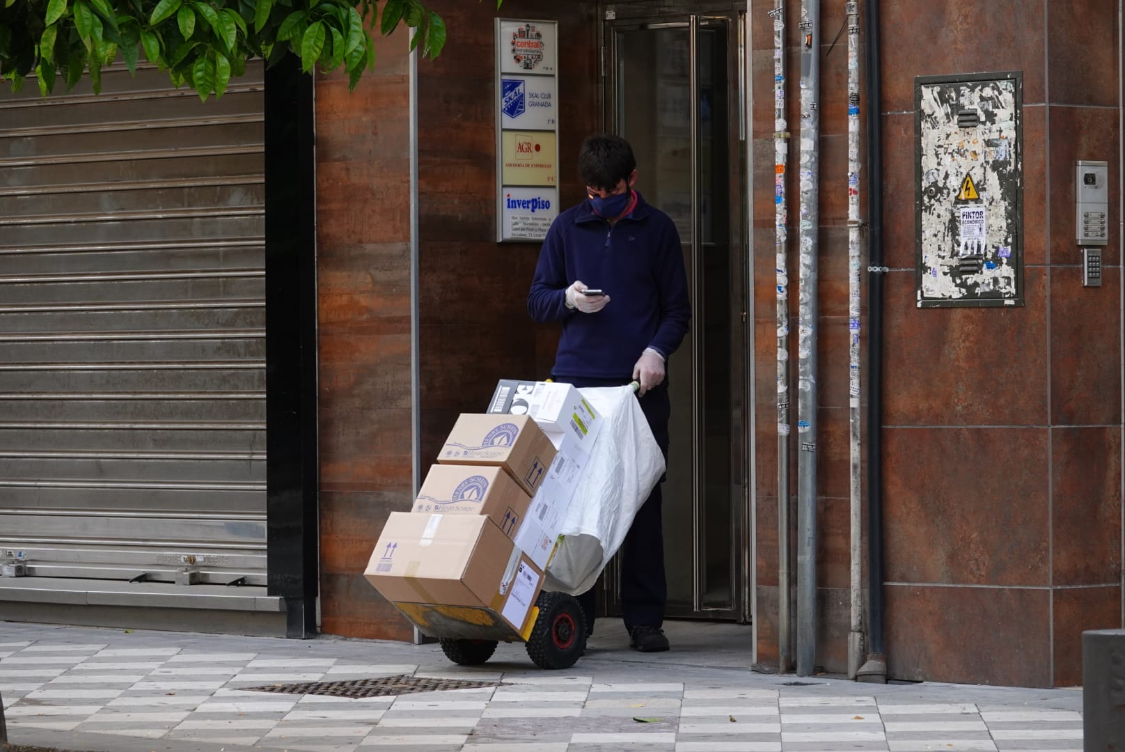
<instances>
[{"instance_id":1,"label":"whole stack of three brown cardboard boxes on the hand truck","mask_svg":"<svg viewBox=\"0 0 1125 752\"><path fill-rule=\"evenodd\" d=\"M513 539L555 455L526 415L461 415L364 576L428 635L526 639L543 573Z\"/></svg>"}]
</instances>

